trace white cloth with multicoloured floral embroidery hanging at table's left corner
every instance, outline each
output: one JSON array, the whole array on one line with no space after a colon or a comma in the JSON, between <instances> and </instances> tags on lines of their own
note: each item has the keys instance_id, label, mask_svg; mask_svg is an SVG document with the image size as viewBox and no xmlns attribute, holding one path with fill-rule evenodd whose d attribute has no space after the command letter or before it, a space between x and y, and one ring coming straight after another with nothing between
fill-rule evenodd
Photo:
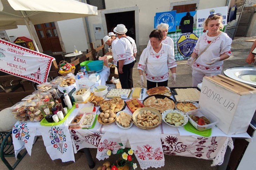
<instances>
[{"instance_id":1,"label":"white cloth with multicoloured floral embroidery hanging at table's left corner","mask_svg":"<svg viewBox=\"0 0 256 170\"><path fill-rule=\"evenodd\" d=\"M15 156L26 148L31 156L31 150L35 135L42 135L47 153L52 160L61 159L62 162L74 161L73 144L68 130L68 126L41 126L40 123L17 122L13 126L13 145Z\"/></svg>"}]
</instances>

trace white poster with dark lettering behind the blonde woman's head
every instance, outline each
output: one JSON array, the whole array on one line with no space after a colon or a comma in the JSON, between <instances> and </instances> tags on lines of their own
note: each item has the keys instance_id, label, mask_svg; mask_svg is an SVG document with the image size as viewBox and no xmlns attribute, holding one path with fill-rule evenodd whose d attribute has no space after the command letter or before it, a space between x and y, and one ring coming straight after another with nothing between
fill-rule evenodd
<instances>
[{"instance_id":1,"label":"white poster with dark lettering behind the blonde woman's head","mask_svg":"<svg viewBox=\"0 0 256 170\"><path fill-rule=\"evenodd\" d=\"M222 24L227 25L227 19L228 19L228 7L217 7L217 8L208 8L208 9L201 9L197 10L196 16L196 28L203 27L203 22L208 18L211 14L217 14L220 13L222 16Z\"/></svg>"}]
</instances>

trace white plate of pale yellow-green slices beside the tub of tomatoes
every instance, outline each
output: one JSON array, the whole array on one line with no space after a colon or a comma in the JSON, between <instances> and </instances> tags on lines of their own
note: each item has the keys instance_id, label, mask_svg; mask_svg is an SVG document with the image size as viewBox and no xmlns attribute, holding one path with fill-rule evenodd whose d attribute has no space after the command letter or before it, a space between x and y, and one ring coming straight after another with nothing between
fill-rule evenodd
<instances>
[{"instance_id":1,"label":"white plate of pale yellow-green slices beside the tub of tomatoes","mask_svg":"<svg viewBox=\"0 0 256 170\"><path fill-rule=\"evenodd\" d=\"M188 123L188 116L179 110L166 110L162 113L163 121L171 127L181 127Z\"/></svg>"}]
</instances>

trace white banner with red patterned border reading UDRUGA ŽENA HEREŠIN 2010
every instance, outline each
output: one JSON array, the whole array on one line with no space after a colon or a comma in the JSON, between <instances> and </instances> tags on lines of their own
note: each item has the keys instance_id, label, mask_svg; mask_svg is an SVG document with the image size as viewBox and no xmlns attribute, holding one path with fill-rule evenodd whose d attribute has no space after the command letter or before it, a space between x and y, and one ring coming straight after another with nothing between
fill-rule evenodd
<instances>
[{"instance_id":1,"label":"white banner with red patterned border reading UDRUGA \u017dENA HERE\u0160IN 2010","mask_svg":"<svg viewBox=\"0 0 256 170\"><path fill-rule=\"evenodd\" d=\"M47 82L55 58L0 39L0 71L36 82Z\"/></svg>"}]
</instances>

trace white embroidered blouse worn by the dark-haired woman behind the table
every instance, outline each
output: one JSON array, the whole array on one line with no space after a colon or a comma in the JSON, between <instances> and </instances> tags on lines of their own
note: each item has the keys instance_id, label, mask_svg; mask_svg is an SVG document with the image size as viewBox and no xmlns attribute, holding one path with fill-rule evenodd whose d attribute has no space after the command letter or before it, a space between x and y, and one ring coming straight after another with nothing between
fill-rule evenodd
<instances>
[{"instance_id":1,"label":"white embroidered blouse worn by the dark-haired woman behind the table","mask_svg":"<svg viewBox=\"0 0 256 170\"><path fill-rule=\"evenodd\" d=\"M168 69L176 67L173 49L162 43L161 50L156 53L152 46L142 51L137 68L145 71L146 79L152 82L168 80Z\"/></svg>"}]
</instances>

